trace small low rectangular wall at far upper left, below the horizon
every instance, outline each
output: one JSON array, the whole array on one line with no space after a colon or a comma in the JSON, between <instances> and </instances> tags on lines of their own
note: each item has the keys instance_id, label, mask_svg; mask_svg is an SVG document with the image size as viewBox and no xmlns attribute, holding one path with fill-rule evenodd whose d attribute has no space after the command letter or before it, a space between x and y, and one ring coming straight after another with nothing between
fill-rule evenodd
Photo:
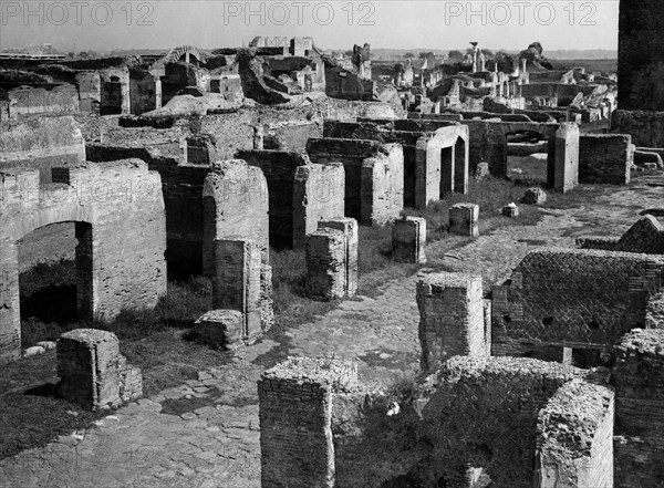
<instances>
[{"instance_id":1,"label":"small low rectangular wall at far upper left, below the horizon","mask_svg":"<svg viewBox=\"0 0 664 488\"><path fill-rule=\"evenodd\" d=\"M43 87L21 86L11 90L9 118L19 120L37 114L71 114L79 112L79 93L72 85Z\"/></svg>"}]
</instances>

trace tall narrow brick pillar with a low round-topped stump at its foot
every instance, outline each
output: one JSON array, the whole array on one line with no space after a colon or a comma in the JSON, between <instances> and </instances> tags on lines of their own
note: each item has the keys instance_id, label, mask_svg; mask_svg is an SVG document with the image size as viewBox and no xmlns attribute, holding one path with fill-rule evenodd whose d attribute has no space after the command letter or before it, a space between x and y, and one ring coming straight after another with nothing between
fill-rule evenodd
<instances>
[{"instance_id":1,"label":"tall narrow brick pillar with a low round-topped stump at its foot","mask_svg":"<svg viewBox=\"0 0 664 488\"><path fill-rule=\"evenodd\" d=\"M249 240L218 239L214 257L212 307L241 312L242 330L237 335L251 342L262 331L261 250Z\"/></svg>"}]
</instances>

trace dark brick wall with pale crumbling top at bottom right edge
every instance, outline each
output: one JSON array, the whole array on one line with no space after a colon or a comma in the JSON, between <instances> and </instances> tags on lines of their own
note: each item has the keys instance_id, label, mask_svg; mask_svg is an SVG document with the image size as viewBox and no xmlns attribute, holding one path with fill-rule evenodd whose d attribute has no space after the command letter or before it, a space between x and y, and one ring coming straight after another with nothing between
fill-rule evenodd
<instances>
[{"instance_id":1,"label":"dark brick wall with pale crumbling top at bottom right edge","mask_svg":"<svg viewBox=\"0 0 664 488\"><path fill-rule=\"evenodd\" d=\"M615 486L655 488L664 479L664 331L633 330L616 346Z\"/></svg>"}]
</instances>

